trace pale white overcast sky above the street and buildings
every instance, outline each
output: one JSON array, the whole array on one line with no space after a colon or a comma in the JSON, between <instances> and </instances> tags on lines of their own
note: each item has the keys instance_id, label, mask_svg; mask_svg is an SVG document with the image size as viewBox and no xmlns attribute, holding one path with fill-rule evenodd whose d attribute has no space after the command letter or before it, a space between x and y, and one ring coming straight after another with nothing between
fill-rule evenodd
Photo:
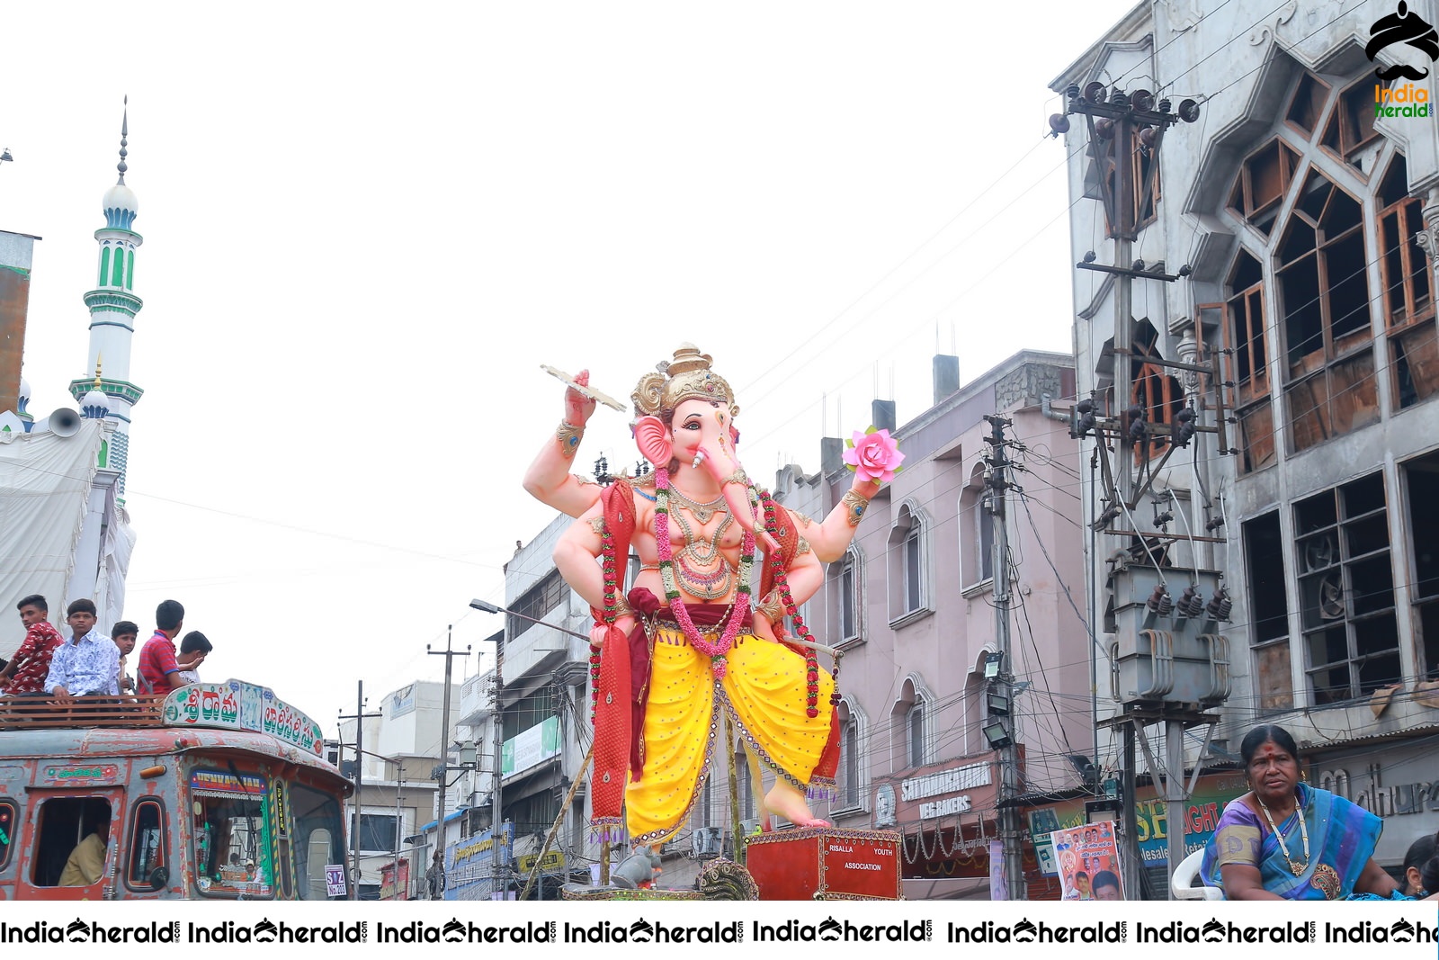
<instances>
[{"instance_id":1,"label":"pale white overcast sky above the street and buildings","mask_svg":"<svg viewBox=\"0 0 1439 960\"><path fill-rule=\"evenodd\" d=\"M964 381L1068 353L1046 83L1131 7L7 7L0 229L45 237L36 416L89 373L130 95L127 615L144 638L181 600L207 679L273 687L332 735L357 679L377 708L442 676L425 645L448 625L476 652L501 628L468 603L502 600L553 515L519 486L561 413L541 363L623 400L695 341L773 482L876 391L922 412L937 345ZM637 458L626 422L596 413L584 471Z\"/></svg>"}]
</instances>

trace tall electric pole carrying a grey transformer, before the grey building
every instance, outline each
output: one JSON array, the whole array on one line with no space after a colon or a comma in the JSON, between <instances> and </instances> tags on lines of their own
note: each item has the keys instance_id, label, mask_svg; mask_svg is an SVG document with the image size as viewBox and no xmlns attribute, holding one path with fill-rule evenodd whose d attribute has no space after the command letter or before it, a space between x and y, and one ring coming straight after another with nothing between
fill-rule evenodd
<instances>
[{"instance_id":1,"label":"tall electric pole carrying a grey transformer, before the grey building","mask_svg":"<svg viewBox=\"0 0 1439 960\"><path fill-rule=\"evenodd\" d=\"M1160 556L1163 556L1164 541L1173 541L1173 538L1167 538L1163 533L1151 534L1141 530L1138 521L1134 518L1134 511L1154 485L1156 476L1164 469L1173 452L1187 448L1196 430L1217 433L1220 453L1236 453L1238 450L1229 450L1225 440L1226 417L1219 356L1215 354L1207 367L1186 361L1173 361L1160 356L1160 350L1157 348L1150 351L1138 350L1134 338L1134 281L1173 284L1190 275L1189 265L1181 266L1174 273L1168 273L1163 261L1157 265L1147 265L1143 259L1135 259L1134 242L1138 239L1145 222L1157 213L1160 147L1164 142L1164 131L1180 121L1186 124L1197 121L1199 101L1186 98L1180 101L1177 111L1171 111L1168 98L1156 99L1151 91L1124 91L1118 85L1107 89L1099 81L1092 81L1082 89L1078 83L1071 83L1065 89L1065 112L1049 118L1050 130L1055 135L1065 134L1069 131L1071 114L1085 118L1094 163L1099 167L1098 186L1104 203L1107 233L1114 240L1112 263L1097 262L1097 253L1089 250L1084 255L1082 262L1075 265L1078 269L1109 273L1115 281L1114 338L1111 341L1114 350L1114 386L1108 404L1104 403L1104 394L1099 391L1095 391L1088 399L1081 399L1075 404L1076 420L1071 436L1082 440L1092 430L1095 439L1099 442L1097 459L1099 466L1104 468L1104 498L1108 505L1091 522L1091 528L1095 533L1120 537L1124 550L1132 557L1132 563L1127 564L1132 570L1121 564L1111 571L1109 577L1115 612L1121 615L1121 622L1115 630L1118 640L1117 659L1120 664L1117 669L1127 689L1122 691L1121 711L1109 720L1101 721L1101 725L1118 728L1124 737L1121 787L1124 856L1120 858L1120 862L1125 894L1131 898L1138 898L1141 894L1141 864L1135 810L1135 744L1138 743L1138 746L1144 747L1156 786L1158 786L1160 764L1150 748L1145 727L1156 723L1166 725L1168 756L1166 760L1164 797L1168 807L1170 828L1168 869L1173 874L1184 855L1184 730L1200 723L1213 723L1213 717L1206 714L1203 708L1223 702L1229 695L1229 684L1226 672L1227 651L1213 652L1225 648L1227 640L1213 632L1199 635L1197 642L1204 642L1210 649L1210 674L1212 676L1223 674L1226 679L1222 682L1212 684L1207 688L1200 682L1197 688L1203 692L1196 694L1190 691L1184 695L1179 692L1187 685L1184 682L1176 684L1170 679L1168 685L1145 685L1134 682L1130 678L1125 664L1143 664L1148 668L1153 662L1154 669L1158 669L1160 659L1157 652L1140 643L1135 623L1128 622L1137 620L1137 617L1122 616L1122 607L1137 606L1130 603L1131 597L1125 596L1125 587L1130 586L1131 579L1143 579L1145 589L1150 583L1148 577L1153 576L1157 580L1153 599L1147 603L1148 612L1138 615L1144 616L1138 625L1147 632L1153 628L1166 626L1171 629L1164 630L1163 636L1179 639L1186 629L1190 629L1199 613L1206 610L1199 600L1193 603L1183 602L1180 603L1179 616L1174 616L1173 622L1170 622L1174 610L1174 599L1170 597L1166 583L1166 563L1157 558L1150 544L1160 544ZM1143 367L1140 366L1141 363L1144 364ZM1145 367L1158 367L1166 371L1181 370L1189 374L1207 374L1215 387L1215 426L1200 425L1202 410L1184 409L1173 415L1156 410L1154 397L1143 389L1135 389L1134 383L1134 373L1137 370L1143 371ZM1154 417L1156 412L1161 416ZM1151 423L1151 417L1156 422ZM1164 438L1164 455L1157 463L1151 463L1150 455L1157 438ZM1112 452L1112 468L1107 452ZM1137 463L1140 474L1135 476L1134 468ZM1194 535L1189 535L1187 540L1191 541L1191 545L1196 541L1222 543L1216 538ZM1145 569L1153 570L1153 574L1143 573ZM1197 597L1199 586L1213 590L1215 596L1210 604L1213 615L1204 628L1207 630L1219 620L1227 619L1227 600L1223 596L1222 587L1217 586L1217 574L1215 571L1202 571L1196 561L1191 586L1184 596ZM1164 622L1161 623L1161 620ZM1222 666L1217 666L1220 664ZM1176 666L1168 668L1170 672L1174 669ZM1177 669L1183 671L1184 665L1180 665ZM1134 689L1128 689L1130 687ZM1144 689L1138 689L1140 687L1144 687Z\"/></svg>"}]
</instances>

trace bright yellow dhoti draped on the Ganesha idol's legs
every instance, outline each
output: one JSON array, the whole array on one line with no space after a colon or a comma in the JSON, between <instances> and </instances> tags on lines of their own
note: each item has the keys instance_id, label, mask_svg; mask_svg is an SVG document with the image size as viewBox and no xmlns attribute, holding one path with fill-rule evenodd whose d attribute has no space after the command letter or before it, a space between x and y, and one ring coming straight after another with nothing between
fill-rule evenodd
<instances>
[{"instance_id":1,"label":"bright yellow dhoti draped on the Ganesha idol's legs","mask_svg":"<svg viewBox=\"0 0 1439 960\"><path fill-rule=\"evenodd\" d=\"M794 651L741 633L715 679L711 658L672 622L659 620L650 649L640 741L642 770L625 792L632 842L661 843L679 829L704 789L728 715L751 761L804 790L830 735L835 682L819 671L820 710L807 715L807 669ZM758 796L758 792L757 792Z\"/></svg>"}]
</instances>

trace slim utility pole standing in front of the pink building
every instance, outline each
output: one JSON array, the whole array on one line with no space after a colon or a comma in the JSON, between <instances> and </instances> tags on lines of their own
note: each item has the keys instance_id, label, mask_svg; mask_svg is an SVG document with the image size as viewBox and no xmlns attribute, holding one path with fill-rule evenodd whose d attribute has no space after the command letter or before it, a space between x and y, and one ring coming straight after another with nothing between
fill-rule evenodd
<instances>
[{"instance_id":1,"label":"slim utility pole standing in front of the pink building","mask_svg":"<svg viewBox=\"0 0 1439 960\"><path fill-rule=\"evenodd\" d=\"M986 415L990 425L990 435L986 442L993 448L989 462L990 488L990 517L994 524L994 558L991 581L994 584L994 642L999 645L1000 669L996 676L1000 697L986 695L987 714L990 723L1000 724L999 747L999 823L1000 841L1004 848L1004 887L1010 900L1025 900L1025 866L1020 859L1019 812L1014 809L1014 797L1019 796L1019 744L1014 741L1014 674L1010 669L1009 643L1009 522L1004 491L1009 489L1009 459L1004 456L1004 427L1010 420L996 415ZM1003 717L1009 717L1009 727L1004 727ZM990 743L994 743L991 740Z\"/></svg>"}]
</instances>

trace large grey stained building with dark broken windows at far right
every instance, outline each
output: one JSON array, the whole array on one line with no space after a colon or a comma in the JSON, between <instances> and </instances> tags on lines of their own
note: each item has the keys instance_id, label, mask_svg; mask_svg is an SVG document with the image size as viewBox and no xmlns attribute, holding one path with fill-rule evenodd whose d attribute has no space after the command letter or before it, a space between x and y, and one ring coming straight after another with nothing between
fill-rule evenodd
<instances>
[{"instance_id":1,"label":"large grey stained building with dark broken windows at far right","mask_svg":"<svg viewBox=\"0 0 1439 960\"><path fill-rule=\"evenodd\" d=\"M1141 410L1148 432L1122 456L1148 459L1170 498L1160 563L1220 571L1233 602L1233 688L1209 753L1186 737L1186 764L1232 761L1252 725L1285 725L1311 780L1386 819L1386 865L1439 826L1435 72L1419 47L1371 43L1404 17L1433 22L1433 4L1143 3L1052 83L1069 108L1073 258L1101 268L1075 271L1079 396L1101 416ZM1376 75L1396 63L1423 79ZM1086 101L1112 108L1115 92L1180 122L1091 124L1104 111ZM1217 377L1166 366L1213 351ZM1222 433L1160 465L1186 407ZM1088 471L1079 507L1086 525L1112 507ZM1135 505L1153 530L1150 510ZM1091 548L1098 610L1107 557L1128 545ZM1102 616L1097 629L1122 639ZM1105 738L1101 764L1117 763Z\"/></svg>"}]
</instances>

